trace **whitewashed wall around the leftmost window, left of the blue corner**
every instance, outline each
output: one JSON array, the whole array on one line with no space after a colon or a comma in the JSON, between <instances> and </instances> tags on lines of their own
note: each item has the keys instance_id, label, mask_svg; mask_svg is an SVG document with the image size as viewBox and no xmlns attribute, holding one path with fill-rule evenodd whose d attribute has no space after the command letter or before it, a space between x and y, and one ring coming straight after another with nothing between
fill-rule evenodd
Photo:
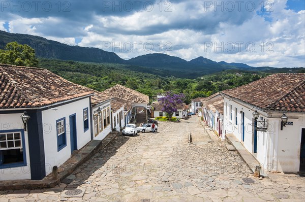
<instances>
[{"instance_id":1,"label":"whitewashed wall around the leftmost window, left of the blue corner","mask_svg":"<svg viewBox=\"0 0 305 202\"><path fill-rule=\"evenodd\" d=\"M20 114L0 114L0 130L24 129ZM31 180L31 166L28 151L27 131L24 131L26 166L12 167L10 169L0 169L1 180Z\"/></svg>"}]
</instances>

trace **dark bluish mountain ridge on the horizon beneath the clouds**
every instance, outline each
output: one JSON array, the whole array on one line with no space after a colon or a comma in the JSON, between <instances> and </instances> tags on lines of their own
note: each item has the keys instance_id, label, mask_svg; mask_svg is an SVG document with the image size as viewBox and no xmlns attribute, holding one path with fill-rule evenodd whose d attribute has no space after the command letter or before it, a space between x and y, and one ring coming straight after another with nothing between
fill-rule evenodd
<instances>
[{"instance_id":1,"label":"dark bluish mountain ridge on the horizon beneath the clouds","mask_svg":"<svg viewBox=\"0 0 305 202\"><path fill-rule=\"evenodd\" d=\"M264 67L255 68L245 63L227 63L225 61L216 62L205 57L198 57L187 61L179 57L162 53L140 55L129 60L120 58L113 52L104 51L99 48L87 48L80 46L70 46L43 37L24 35L20 33L9 33L0 30L0 49L3 49L9 42L16 41L19 44L27 44L35 49L38 57L54 58L61 60L74 60L97 63L119 63L129 65L130 68L147 71L153 68L154 73L182 78L197 78L202 75L216 73L223 70L241 69L248 71L272 70L275 68ZM156 71L157 70L157 71Z\"/></svg>"}]
</instances>

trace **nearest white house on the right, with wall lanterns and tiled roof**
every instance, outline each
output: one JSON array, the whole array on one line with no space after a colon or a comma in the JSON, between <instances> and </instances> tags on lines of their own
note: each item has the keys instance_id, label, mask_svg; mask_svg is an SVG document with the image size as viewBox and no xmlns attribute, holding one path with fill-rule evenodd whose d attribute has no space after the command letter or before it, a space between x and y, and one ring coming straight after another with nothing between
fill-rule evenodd
<instances>
[{"instance_id":1,"label":"nearest white house on the right, with wall lanterns and tiled roof","mask_svg":"<svg viewBox=\"0 0 305 202\"><path fill-rule=\"evenodd\" d=\"M267 171L305 171L300 163L305 152L305 74L273 74L222 94L226 134L234 134Z\"/></svg>"}]
</instances>

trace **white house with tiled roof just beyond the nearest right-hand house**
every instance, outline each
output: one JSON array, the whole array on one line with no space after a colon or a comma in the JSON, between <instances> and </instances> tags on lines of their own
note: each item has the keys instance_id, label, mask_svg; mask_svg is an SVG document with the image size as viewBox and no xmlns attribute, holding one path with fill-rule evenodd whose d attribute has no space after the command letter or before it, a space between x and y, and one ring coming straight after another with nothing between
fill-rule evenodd
<instances>
[{"instance_id":1,"label":"white house with tiled roof just beyond the nearest right-hand house","mask_svg":"<svg viewBox=\"0 0 305 202\"><path fill-rule=\"evenodd\" d=\"M224 97L215 93L201 99L203 121L221 138L225 139L223 130Z\"/></svg>"}]
</instances>

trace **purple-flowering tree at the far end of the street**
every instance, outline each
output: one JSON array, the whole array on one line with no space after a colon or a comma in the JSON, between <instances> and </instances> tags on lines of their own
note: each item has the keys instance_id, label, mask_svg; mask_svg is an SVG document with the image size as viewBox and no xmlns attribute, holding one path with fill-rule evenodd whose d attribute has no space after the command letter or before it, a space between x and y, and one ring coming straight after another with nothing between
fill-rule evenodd
<instances>
[{"instance_id":1,"label":"purple-flowering tree at the far end of the street","mask_svg":"<svg viewBox=\"0 0 305 202\"><path fill-rule=\"evenodd\" d=\"M163 106L162 111L165 112L166 117L171 120L174 112L177 111L179 105L183 103L185 95L174 94L172 92L167 92L164 97L159 99L159 103Z\"/></svg>"}]
</instances>

